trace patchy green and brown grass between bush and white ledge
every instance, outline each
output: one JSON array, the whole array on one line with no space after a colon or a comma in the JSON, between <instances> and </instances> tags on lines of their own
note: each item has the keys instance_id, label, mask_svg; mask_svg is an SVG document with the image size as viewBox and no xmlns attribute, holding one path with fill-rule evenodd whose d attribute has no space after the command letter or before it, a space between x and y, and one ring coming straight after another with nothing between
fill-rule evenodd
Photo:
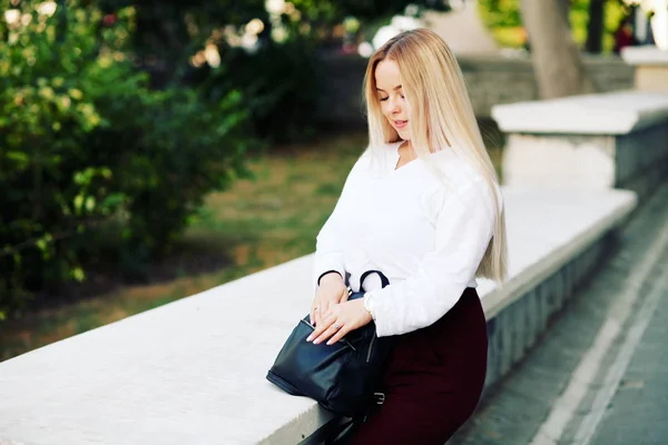
<instances>
[{"instance_id":1,"label":"patchy green and brown grass between bush and white ledge","mask_svg":"<svg viewBox=\"0 0 668 445\"><path fill-rule=\"evenodd\" d=\"M488 146L501 146L494 129L483 126L483 135ZM0 332L0 360L312 253L365 144L365 132L352 131L248 159L255 179L209 195L184 241L189 250L218 250L230 266L126 286L7 322ZM490 155L499 169L501 149L491 148Z\"/></svg>"}]
</instances>

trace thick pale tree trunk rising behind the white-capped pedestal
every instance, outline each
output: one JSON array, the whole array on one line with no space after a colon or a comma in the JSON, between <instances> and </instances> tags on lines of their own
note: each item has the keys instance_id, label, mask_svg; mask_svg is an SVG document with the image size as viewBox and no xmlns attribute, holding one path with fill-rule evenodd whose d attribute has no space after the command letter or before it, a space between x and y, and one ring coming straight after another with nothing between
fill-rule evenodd
<instances>
[{"instance_id":1,"label":"thick pale tree trunk rising behind the white-capped pedestal","mask_svg":"<svg viewBox=\"0 0 668 445\"><path fill-rule=\"evenodd\" d=\"M521 0L541 99L593 91L561 9L562 1Z\"/></svg>"}]
</instances>

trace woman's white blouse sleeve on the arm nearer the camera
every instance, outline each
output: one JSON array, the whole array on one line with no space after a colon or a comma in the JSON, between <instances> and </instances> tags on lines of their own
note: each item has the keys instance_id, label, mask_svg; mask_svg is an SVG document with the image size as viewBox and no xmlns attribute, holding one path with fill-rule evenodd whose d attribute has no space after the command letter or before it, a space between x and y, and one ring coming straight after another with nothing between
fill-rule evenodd
<instances>
[{"instance_id":1,"label":"woman's white blouse sleeve on the arm nearer the camera","mask_svg":"<svg viewBox=\"0 0 668 445\"><path fill-rule=\"evenodd\" d=\"M434 250L413 276L372 291L379 337L430 326L456 304L475 276L494 218L494 200L483 181L443 197Z\"/></svg>"}]
</instances>

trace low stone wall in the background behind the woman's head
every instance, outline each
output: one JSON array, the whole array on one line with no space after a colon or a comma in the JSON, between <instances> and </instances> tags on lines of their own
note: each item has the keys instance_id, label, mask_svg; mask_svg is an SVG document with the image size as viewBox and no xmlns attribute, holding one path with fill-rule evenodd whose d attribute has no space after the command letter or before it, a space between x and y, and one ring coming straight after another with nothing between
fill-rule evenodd
<instances>
[{"instance_id":1,"label":"low stone wall in the background behind the woman's head","mask_svg":"<svg viewBox=\"0 0 668 445\"><path fill-rule=\"evenodd\" d=\"M361 57L327 57L322 60L323 89L317 120L323 125L364 126L362 82L367 59ZM533 68L528 58L502 56L461 56L475 115L485 119L498 103L538 99ZM587 71L599 92L630 89L633 68L619 58L584 57Z\"/></svg>"}]
</instances>

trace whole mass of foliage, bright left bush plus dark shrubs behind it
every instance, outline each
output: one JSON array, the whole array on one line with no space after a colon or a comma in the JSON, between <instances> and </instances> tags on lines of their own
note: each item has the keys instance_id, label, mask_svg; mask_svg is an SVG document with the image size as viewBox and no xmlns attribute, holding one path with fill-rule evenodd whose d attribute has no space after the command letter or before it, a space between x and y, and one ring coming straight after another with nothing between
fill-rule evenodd
<instances>
[{"instance_id":1,"label":"whole mass of foliage, bright left bush plus dark shrubs behind it","mask_svg":"<svg viewBox=\"0 0 668 445\"><path fill-rule=\"evenodd\" d=\"M38 12L47 3L53 16ZM205 194L245 175L256 136L308 135L317 51L344 19L410 3L446 9L295 0L276 17L265 0L0 0L18 13L0 20L0 319L96 261L141 276ZM253 19L265 29L245 52L227 37ZM210 46L220 66L196 68Z\"/></svg>"}]
</instances>

